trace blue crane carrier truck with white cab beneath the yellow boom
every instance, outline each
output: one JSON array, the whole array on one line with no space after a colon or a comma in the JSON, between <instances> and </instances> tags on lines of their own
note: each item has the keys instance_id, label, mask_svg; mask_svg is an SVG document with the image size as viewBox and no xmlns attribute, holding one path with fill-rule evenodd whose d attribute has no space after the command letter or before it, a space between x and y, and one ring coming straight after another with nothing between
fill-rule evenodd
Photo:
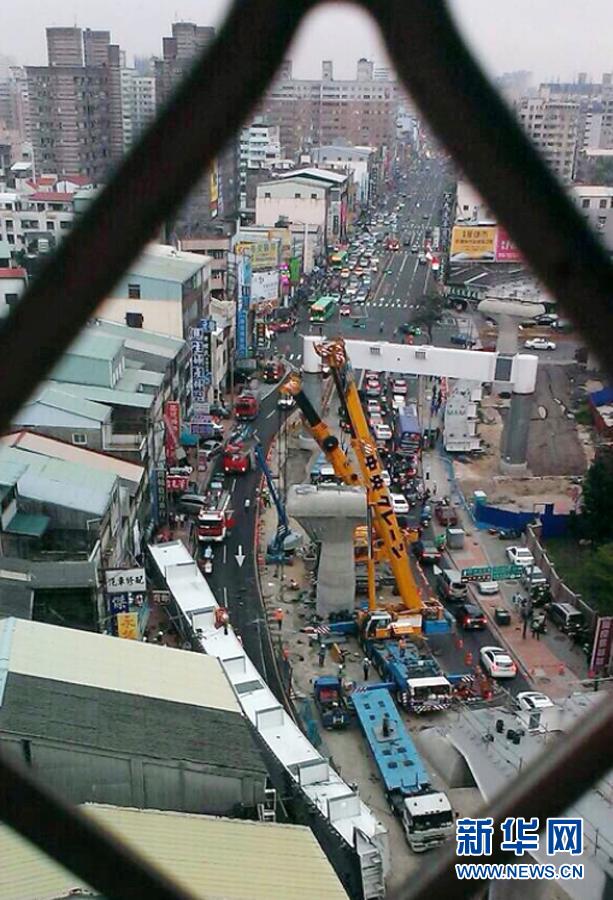
<instances>
[{"instance_id":1,"label":"blue crane carrier truck with white cab beneath the yellow boom","mask_svg":"<svg viewBox=\"0 0 613 900\"><path fill-rule=\"evenodd\" d=\"M364 645L383 681L394 685L403 709L421 715L449 708L451 683L431 653L420 653L414 644L404 642L403 646L395 640L367 640Z\"/></svg>"}]
</instances>

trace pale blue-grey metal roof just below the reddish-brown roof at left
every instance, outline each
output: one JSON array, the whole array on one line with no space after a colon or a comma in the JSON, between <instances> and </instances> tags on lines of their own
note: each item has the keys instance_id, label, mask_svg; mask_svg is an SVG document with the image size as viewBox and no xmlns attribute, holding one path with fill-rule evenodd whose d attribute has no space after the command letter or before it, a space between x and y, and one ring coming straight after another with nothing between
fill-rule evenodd
<instances>
[{"instance_id":1,"label":"pale blue-grey metal roof just below the reddish-brown roof at left","mask_svg":"<svg viewBox=\"0 0 613 900\"><path fill-rule=\"evenodd\" d=\"M15 447L0 447L0 467L6 462L24 466L17 481L17 490L22 497L96 516L106 512L117 481L117 476L111 472Z\"/></svg>"}]
</instances>

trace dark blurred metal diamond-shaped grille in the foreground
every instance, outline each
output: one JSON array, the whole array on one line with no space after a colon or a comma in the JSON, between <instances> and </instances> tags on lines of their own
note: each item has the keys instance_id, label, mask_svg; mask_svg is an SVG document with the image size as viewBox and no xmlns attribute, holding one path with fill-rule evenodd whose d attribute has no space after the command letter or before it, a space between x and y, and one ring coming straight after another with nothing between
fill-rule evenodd
<instances>
[{"instance_id":1,"label":"dark blurred metal diamond-shaped grille in the foreground","mask_svg":"<svg viewBox=\"0 0 613 900\"><path fill-rule=\"evenodd\" d=\"M466 48L442 0L354 0L382 32L437 137L613 373L613 267ZM0 328L0 432L159 226L238 131L317 0L240 0L152 127ZM562 812L610 768L613 706L601 704L488 814ZM177 900L176 885L0 759L0 818L107 897ZM495 847L488 862L505 854ZM398 896L466 897L453 851Z\"/></svg>"}]
</instances>

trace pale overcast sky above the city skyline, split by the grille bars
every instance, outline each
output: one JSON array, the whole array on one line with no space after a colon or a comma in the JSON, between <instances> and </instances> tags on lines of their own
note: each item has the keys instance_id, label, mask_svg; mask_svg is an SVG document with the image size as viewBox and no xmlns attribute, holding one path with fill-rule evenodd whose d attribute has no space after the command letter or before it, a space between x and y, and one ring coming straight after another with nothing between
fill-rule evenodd
<instances>
[{"instance_id":1,"label":"pale overcast sky above the city skyline, split by the grille bars","mask_svg":"<svg viewBox=\"0 0 613 900\"><path fill-rule=\"evenodd\" d=\"M291 2L291 0L287 0ZM585 71L600 78L613 70L611 0L449 0L460 26L495 74L528 69L535 80L572 79ZM115 43L134 54L161 53L162 35L175 20L219 24L227 0L4 0L0 56L27 65L46 62L45 27L108 28ZM248 14L249 2L245 2ZM342 35L342 40L340 36ZM335 74L352 76L360 56L385 64L369 19L350 7L315 13L291 53L298 76L317 77L322 59Z\"/></svg>"}]
</instances>

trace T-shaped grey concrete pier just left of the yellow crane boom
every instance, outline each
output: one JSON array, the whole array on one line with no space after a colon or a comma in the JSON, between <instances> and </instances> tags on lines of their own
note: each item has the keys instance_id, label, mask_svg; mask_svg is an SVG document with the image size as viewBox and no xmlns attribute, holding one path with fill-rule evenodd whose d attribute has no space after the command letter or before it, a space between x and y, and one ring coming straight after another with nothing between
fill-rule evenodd
<instances>
[{"instance_id":1,"label":"T-shaped grey concrete pier just left of the yellow crane boom","mask_svg":"<svg viewBox=\"0 0 613 900\"><path fill-rule=\"evenodd\" d=\"M346 485L294 485L287 512L320 544L317 572L319 616L352 609L355 602L353 534L366 522L366 492Z\"/></svg>"}]
</instances>

